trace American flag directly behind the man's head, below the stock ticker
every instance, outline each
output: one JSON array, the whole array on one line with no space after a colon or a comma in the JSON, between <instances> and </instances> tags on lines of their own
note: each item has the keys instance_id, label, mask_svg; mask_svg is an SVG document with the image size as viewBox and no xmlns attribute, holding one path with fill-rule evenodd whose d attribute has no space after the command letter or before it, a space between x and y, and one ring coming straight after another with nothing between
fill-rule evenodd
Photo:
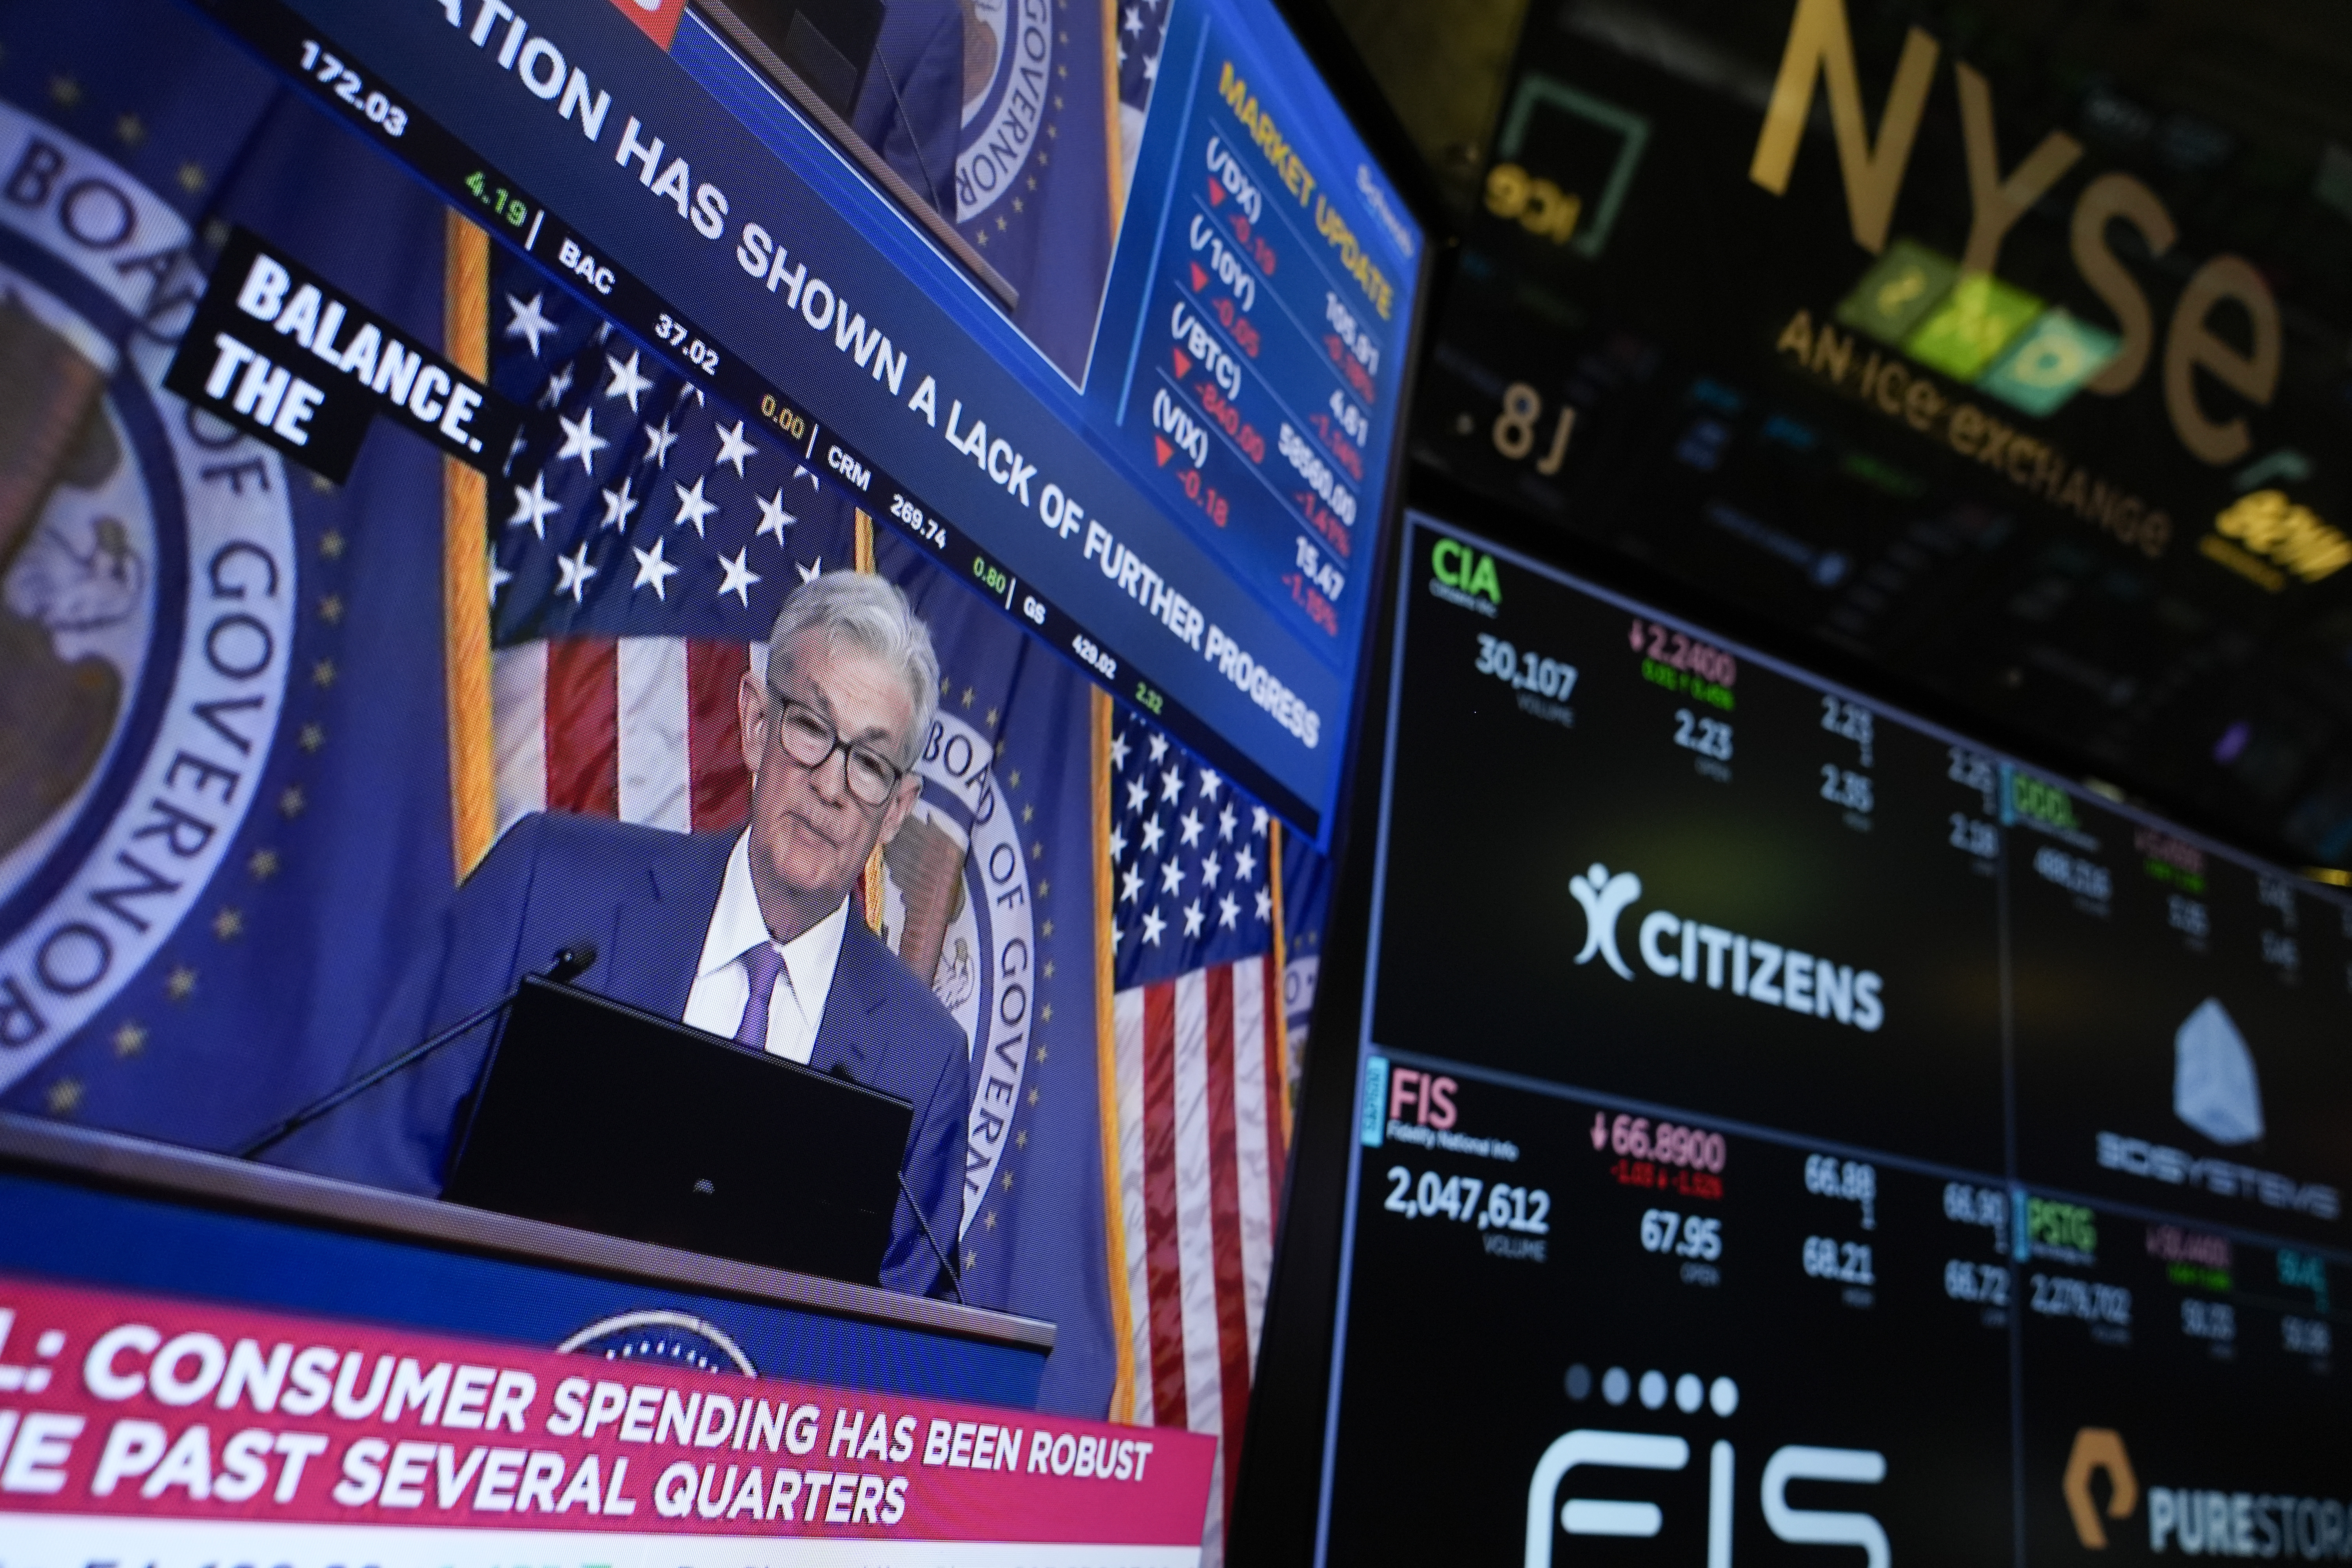
<instances>
[{"instance_id":1,"label":"American flag directly behind the man's head, below the stock ticker","mask_svg":"<svg viewBox=\"0 0 2352 1568\"><path fill-rule=\"evenodd\" d=\"M736 682L786 590L851 564L847 505L529 266L499 268L492 313L492 378L536 411L489 491L496 827L731 827Z\"/></svg>"}]
</instances>

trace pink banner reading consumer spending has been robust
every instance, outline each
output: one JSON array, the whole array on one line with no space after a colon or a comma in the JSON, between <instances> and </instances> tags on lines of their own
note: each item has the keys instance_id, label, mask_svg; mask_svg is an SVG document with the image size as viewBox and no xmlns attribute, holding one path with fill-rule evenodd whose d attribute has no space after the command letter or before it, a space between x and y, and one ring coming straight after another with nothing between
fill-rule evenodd
<instances>
[{"instance_id":1,"label":"pink banner reading consumer spending has been robust","mask_svg":"<svg viewBox=\"0 0 2352 1568\"><path fill-rule=\"evenodd\" d=\"M1200 1561L1216 1443L0 1281L9 1561Z\"/></svg>"}]
</instances>

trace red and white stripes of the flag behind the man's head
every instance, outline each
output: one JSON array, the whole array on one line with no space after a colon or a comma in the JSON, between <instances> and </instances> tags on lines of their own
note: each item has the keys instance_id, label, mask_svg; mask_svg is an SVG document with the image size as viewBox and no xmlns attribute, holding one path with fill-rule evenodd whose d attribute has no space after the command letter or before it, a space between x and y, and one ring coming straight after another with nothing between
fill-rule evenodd
<instances>
[{"instance_id":1,"label":"red and white stripes of the flag behind the man's head","mask_svg":"<svg viewBox=\"0 0 2352 1568\"><path fill-rule=\"evenodd\" d=\"M767 675L764 644L557 637L499 649L499 832L529 811L677 832L739 825L750 811L736 729L743 670Z\"/></svg>"}]
</instances>

